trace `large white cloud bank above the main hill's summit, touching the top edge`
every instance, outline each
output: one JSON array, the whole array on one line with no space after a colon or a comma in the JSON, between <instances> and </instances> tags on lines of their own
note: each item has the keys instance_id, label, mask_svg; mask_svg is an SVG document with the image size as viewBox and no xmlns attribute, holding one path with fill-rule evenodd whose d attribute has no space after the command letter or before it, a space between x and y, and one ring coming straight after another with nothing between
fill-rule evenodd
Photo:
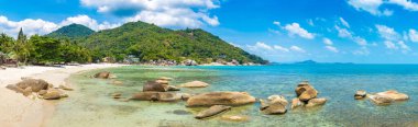
<instances>
[{"instance_id":1,"label":"large white cloud bank above the main hill's summit, touching the top edge","mask_svg":"<svg viewBox=\"0 0 418 127\"><path fill-rule=\"evenodd\" d=\"M81 4L122 16L124 22L144 21L179 28L220 24L208 12L219 8L218 0L81 0Z\"/></svg>"}]
</instances>

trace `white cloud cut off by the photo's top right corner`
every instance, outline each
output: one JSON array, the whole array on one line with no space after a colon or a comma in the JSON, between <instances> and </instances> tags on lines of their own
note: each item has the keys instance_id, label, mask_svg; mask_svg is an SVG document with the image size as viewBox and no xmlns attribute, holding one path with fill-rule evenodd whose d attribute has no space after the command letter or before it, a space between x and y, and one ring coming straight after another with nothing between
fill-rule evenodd
<instances>
[{"instance_id":1,"label":"white cloud cut off by the photo's top right corner","mask_svg":"<svg viewBox=\"0 0 418 127\"><path fill-rule=\"evenodd\" d=\"M392 10L381 9L383 4L394 4L408 11L418 11L418 3L411 0L349 0L348 3L359 11L366 11L380 16L389 16L394 13Z\"/></svg>"}]
</instances>

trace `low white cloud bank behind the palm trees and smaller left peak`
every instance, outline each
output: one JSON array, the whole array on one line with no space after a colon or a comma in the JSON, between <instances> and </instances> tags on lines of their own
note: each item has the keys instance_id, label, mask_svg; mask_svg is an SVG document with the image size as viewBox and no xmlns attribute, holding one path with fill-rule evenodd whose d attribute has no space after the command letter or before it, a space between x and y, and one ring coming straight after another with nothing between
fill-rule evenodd
<instances>
[{"instance_id":1,"label":"low white cloud bank behind the palm trees and smaller left peak","mask_svg":"<svg viewBox=\"0 0 418 127\"><path fill-rule=\"evenodd\" d=\"M62 26L69 25L73 23L86 25L95 31L112 28L120 25L120 24L110 24L108 22L98 23L96 20L87 15L70 16L63 20L59 23L44 21L41 19L37 19L37 20L25 19L22 21L11 21L6 16L0 15L0 32L12 35L12 36L16 36L19 30L22 27L23 32L29 36L34 35L34 34L44 35Z\"/></svg>"}]
</instances>

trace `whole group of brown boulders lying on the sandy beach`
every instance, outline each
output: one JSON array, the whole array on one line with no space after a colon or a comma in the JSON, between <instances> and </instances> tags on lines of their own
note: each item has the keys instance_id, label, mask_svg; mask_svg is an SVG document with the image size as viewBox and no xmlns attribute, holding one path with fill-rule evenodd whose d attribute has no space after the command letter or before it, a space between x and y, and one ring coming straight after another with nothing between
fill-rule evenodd
<instances>
[{"instance_id":1,"label":"whole group of brown boulders lying on the sandy beach","mask_svg":"<svg viewBox=\"0 0 418 127\"><path fill-rule=\"evenodd\" d=\"M58 100L62 97L68 97L62 90L72 91L73 89L66 85L59 85L58 88L54 88L53 84L46 82L42 79L30 79L24 78L21 82L16 84L9 84L6 86L10 90L13 90L18 93L22 93L23 95L32 95L36 93L44 100Z\"/></svg>"}]
</instances>

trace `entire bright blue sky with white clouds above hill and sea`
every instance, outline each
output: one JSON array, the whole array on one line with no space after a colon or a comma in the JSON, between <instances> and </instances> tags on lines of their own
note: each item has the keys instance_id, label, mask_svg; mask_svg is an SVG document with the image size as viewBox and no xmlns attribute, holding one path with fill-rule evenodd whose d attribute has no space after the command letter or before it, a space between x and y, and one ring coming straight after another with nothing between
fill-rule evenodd
<instances>
[{"instance_id":1,"label":"entire bright blue sky with white clouds above hill and sea","mask_svg":"<svg viewBox=\"0 0 418 127\"><path fill-rule=\"evenodd\" d=\"M418 0L0 0L0 33L143 21L202 28L270 61L418 64Z\"/></svg>"}]
</instances>

